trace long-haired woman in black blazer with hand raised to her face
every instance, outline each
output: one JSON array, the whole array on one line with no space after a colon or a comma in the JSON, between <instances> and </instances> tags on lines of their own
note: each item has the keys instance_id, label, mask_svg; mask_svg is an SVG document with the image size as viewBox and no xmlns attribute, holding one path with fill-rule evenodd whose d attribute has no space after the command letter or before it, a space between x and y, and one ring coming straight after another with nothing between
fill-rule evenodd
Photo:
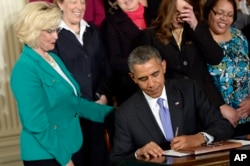
<instances>
[{"instance_id":1,"label":"long-haired woman in black blazer with hand raised to her face","mask_svg":"<svg viewBox=\"0 0 250 166\"><path fill-rule=\"evenodd\" d=\"M208 64L220 63L223 52L207 24L200 21L199 1L165 0L142 44L159 50L167 64L166 79L193 79L216 106L224 104L208 73Z\"/></svg>"}]
</instances>

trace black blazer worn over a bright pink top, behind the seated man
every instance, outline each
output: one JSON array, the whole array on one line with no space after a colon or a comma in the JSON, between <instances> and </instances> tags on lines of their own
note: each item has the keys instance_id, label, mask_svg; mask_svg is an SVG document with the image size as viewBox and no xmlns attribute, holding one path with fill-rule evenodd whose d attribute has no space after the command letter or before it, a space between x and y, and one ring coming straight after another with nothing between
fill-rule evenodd
<instances>
[{"instance_id":1,"label":"black blazer worn over a bright pink top, behind the seated man","mask_svg":"<svg viewBox=\"0 0 250 166\"><path fill-rule=\"evenodd\" d=\"M149 24L147 8L145 8L144 17ZM139 45L142 31L120 8L106 17L102 27L104 43L113 71L113 92L117 96L118 104L121 104L137 90L137 86L128 75L127 59L130 52Z\"/></svg>"}]
</instances>

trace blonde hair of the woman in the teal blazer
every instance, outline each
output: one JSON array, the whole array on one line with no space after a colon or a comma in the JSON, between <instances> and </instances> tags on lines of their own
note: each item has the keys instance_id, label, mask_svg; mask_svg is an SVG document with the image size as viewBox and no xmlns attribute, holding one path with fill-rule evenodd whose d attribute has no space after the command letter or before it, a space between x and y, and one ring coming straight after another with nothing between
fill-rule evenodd
<instances>
[{"instance_id":1,"label":"blonde hair of the woman in the teal blazer","mask_svg":"<svg viewBox=\"0 0 250 166\"><path fill-rule=\"evenodd\" d=\"M40 32L58 28L61 17L61 11L52 3L28 3L20 11L14 29L20 42L36 48Z\"/></svg>"}]
</instances>

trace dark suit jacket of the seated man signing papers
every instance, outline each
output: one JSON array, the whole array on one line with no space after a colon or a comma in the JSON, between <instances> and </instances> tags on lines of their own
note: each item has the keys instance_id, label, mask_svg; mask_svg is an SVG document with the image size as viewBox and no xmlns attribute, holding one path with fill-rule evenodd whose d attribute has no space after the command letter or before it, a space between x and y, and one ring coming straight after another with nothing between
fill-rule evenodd
<instances>
[{"instance_id":1,"label":"dark suit jacket of the seated man signing papers","mask_svg":"<svg viewBox=\"0 0 250 166\"><path fill-rule=\"evenodd\" d=\"M165 84L173 131L179 135L206 132L215 141L229 139L233 134L230 123L218 108L211 105L191 80L168 80ZM114 147L111 164L116 166L123 158L134 157L135 151L150 141L169 149L152 111L141 91L121 105L115 116Z\"/></svg>"}]
</instances>

